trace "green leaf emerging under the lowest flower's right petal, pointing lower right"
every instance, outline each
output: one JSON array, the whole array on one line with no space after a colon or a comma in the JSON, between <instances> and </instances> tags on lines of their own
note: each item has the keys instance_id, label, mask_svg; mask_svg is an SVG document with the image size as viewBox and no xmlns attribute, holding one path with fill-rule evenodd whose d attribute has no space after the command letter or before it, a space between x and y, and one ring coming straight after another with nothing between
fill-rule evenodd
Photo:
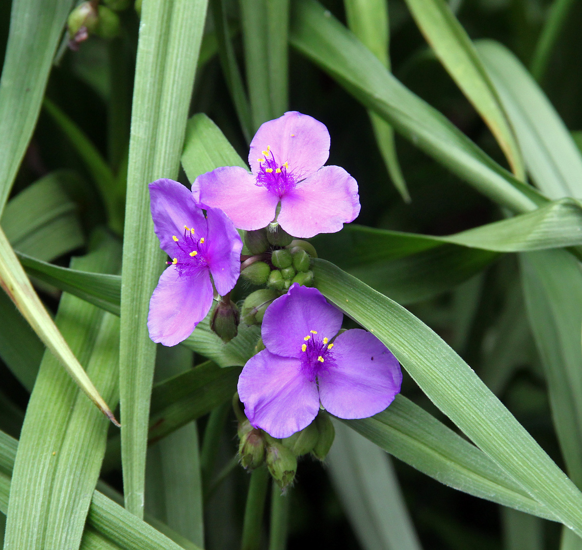
<instances>
[{"instance_id":1,"label":"green leaf emerging under the lowest flower's right petal, pointing lower right","mask_svg":"<svg viewBox=\"0 0 582 550\"><path fill-rule=\"evenodd\" d=\"M555 519L485 453L424 409L397 395L383 412L348 426L437 481L475 497Z\"/></svg>"}]
</instances>

